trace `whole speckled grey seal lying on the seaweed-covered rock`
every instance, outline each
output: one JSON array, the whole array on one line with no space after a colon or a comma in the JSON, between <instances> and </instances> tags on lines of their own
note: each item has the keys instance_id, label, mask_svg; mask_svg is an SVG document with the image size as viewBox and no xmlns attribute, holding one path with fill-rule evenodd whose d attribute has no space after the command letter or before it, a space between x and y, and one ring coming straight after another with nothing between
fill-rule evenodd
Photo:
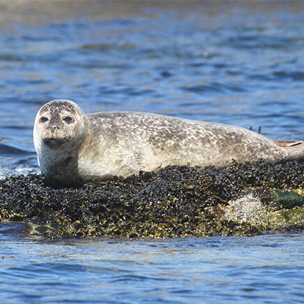
<instances>
[{"instance_id":1,"label":"whole speckled grey seal lying on the seaweed-covered rock","mask_svg":"<svg viewBox=\"0 0 304 304\"><path fill-rule=\"evenodd\" d=\"M81 185L167 165L225 167L233 158L304 160L302 142L277 142L237 126L158 114L86 115L70 100L40 108L33 140L41 172L54 185Z\"/></svg>"}]
</instances>

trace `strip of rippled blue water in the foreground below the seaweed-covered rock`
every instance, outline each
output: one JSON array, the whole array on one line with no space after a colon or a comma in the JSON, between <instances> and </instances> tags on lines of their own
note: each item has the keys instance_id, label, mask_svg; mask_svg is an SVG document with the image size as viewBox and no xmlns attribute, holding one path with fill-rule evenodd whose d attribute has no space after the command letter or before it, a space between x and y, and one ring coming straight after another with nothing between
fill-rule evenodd
<instances>
[{"instance_id":1,"label":"strip of rippled blue water in the foreground below the seaweed-covered rock","mask_svg":"<svg viewBox=\"0 0 304 304\"><path fill-rule=\"evenodd\" d=\"M1 226L7 303L303 303L303 233L33 242Z\"/></svg>"}]
</instances>

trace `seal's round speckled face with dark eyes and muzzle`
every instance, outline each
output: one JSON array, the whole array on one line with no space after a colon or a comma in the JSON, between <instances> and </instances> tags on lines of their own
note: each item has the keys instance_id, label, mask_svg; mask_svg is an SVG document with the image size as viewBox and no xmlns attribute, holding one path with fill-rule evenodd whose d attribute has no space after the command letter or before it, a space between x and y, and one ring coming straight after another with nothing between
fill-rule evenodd
<instances>
[{"instance_id":1,"label":"seal's round speckled face with dark eyes and muzzle","mask_svg":"<svg viewBox=\"0 0 304 304\"><path fill-rule=\"evenodd\" d=\"M51 149L58 149L63 144L80 144L84 137L84 116L69 100L47 102L36 116L36 133Z\"/></svg>"}]
</instances>

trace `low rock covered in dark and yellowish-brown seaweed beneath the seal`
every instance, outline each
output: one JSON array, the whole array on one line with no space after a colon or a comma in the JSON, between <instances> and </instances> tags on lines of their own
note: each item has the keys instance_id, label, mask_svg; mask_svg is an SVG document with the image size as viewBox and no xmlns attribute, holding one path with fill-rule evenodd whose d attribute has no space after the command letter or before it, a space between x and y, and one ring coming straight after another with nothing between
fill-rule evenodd
<instances>
[{"instance_id":1,"label":"low rock covered in dark and yellowish-brown seaweed beneath the seal","mask_svg":"<svg viewBox=\"0 0 304 304\"><path fill-rule=\"evenodd\" d=\"M45 238L253 235L303 229L303 188L298 162L169 166L81 188L54 189L40 175L7 177L0 220L26 222ZM251 209L242 203L248 195ZM253 213L244 213L246 204Z\"/></svg>"}]
</instances>

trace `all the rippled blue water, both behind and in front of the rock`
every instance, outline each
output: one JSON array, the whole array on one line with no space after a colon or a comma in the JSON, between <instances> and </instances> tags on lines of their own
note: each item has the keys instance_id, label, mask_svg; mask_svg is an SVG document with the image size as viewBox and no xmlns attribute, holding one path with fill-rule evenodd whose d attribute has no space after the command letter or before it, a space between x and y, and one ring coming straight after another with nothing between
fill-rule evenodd
<instances>
[{"instance_id":1,"label":"all the rippled blue water, both behind and in front of the rock","mask_svg":"<svg viewBox=\"0 0 304 304\"><path fill-rule=\"evenodd\" d=\"M0 177L39 172L56 98L304 139L304 3L0 3ZM304 234L35 240L0 225L3 303L304 303Z\"/></svg>"}]
</instances>

